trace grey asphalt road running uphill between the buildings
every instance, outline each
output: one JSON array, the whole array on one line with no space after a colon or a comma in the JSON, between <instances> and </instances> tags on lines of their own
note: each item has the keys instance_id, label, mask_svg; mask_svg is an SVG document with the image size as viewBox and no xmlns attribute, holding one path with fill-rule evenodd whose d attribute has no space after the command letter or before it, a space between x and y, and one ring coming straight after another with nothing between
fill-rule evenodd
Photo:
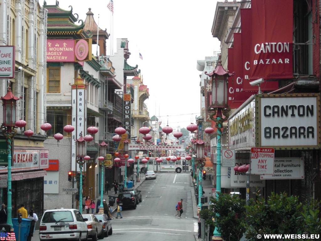
<instances>
[{"instance_id":1,"label":"grey asphalt road running uphill between the buildings","mask_svg":"<svg viewBox=\"0 0 321 241\"><path fill-rule=\"evenodd\" d=\"M100 240L195 240L190 173L158 173L156 180L145 180L138 189L143 201L135 210L124 209L122 219L112 219L113 234ZM181 198L184 212L182 218L175 218ZM38 240L35 231L31 241Z\"/></svg>"}]
</instances>

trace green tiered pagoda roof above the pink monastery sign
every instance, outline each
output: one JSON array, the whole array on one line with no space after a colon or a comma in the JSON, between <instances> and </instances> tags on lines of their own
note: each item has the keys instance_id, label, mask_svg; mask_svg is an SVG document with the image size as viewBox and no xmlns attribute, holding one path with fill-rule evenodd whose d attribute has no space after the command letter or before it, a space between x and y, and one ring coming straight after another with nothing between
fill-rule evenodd
<instances>
[{"instance_id":1,"label":"green tiered pagoda roof above the pink monastery sign","mask_svg":"<svg viewBox=\"0 0 321 241\"><path fill-rule=\"evenodd\" d=\"M81 19L78 19L77 13L73 14L72 6L69 6L70 10L64 10L59 7L59 2L56 0L56 5L47 5L46 1L44 1L43 7L48 10L47 35L80 34L85 38L91 35L83 32L85 24ZM76 24L77 21L80 25ZM73 38L77 39L77 36L73 36Z\"/></svg>"}]
</instances>

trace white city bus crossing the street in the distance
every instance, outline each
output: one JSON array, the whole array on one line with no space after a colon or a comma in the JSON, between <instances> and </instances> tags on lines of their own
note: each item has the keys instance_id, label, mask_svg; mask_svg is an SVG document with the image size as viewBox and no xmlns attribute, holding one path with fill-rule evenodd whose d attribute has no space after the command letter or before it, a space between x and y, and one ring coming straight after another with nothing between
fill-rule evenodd
<instances>
[{"instance_id":1,"label":"white city bus crossing the street in the distance","mask_svg":"<svg viewBox=\"0 0 321 241\"><path fill-rule=\"evenodd\" d=\"M173 157L173 156L170 156ZM175 162L167 161L166 157L161 157L162 162L157 163L155 157L150 157L148 165L143 164L141 159L139 160L139 171L154 171L154 172L189 172L191 169L190 161L186 160L185 157L181 157L180 160ZM148 166L148 169L147 169ZM134 164L134 169L137 170L137 163Z\"/></svg>"}]
</instances>

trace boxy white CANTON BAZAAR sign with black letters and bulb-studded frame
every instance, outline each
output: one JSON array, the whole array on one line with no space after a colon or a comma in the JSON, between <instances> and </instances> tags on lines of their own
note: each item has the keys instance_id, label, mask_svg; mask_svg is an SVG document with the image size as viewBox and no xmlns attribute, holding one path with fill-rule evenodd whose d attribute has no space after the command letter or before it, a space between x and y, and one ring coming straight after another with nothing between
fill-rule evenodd
<instances>
[{"instance_id":1,"label":"boxy white CANTON BAZAAR sign with black letters and bulb-studded frame","mask_svg":"<svg viewBox=\"0 0 321 241\"><path fill-rule=\"evenodd\" d=\"M257 96L256 100L260 103L259 146L305 149L320 145L320 94Z\"/></svg>"}]
</instances>

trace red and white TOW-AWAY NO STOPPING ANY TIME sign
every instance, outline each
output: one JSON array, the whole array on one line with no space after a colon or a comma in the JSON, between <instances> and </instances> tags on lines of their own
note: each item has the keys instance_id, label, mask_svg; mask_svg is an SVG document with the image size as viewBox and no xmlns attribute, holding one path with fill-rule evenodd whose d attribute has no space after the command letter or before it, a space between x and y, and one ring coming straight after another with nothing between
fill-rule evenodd
<instances>
[{"instance_id":1,"label":"red and white TOW-AWAY NO STOPPING ANY TIME sign","mask_svg":"<svg viewBox=\"0 0 321 241\"><path fill-rule=\"evenodd\" d=\"M274 148L251 148L251 174L274 173Z\"/></svg>"}]
</instances>

